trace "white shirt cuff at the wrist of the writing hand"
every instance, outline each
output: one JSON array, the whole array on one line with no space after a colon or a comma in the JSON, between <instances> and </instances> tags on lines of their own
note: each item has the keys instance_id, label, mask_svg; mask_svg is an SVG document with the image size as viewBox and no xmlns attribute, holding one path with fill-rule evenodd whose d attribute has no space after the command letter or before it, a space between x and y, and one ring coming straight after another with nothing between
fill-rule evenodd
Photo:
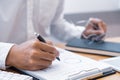
<instances>
[{"instance_id":1,"label":"white shirt cuff at the wrist of the writing hand","mask_svg":"<svg viewBox=\"0 0 120 80\"><path fill-rule=\"evenodd\" d=\"M0 69L6 69L6 58L14 44L0 42Z\"/></svg>"}]
</instances>

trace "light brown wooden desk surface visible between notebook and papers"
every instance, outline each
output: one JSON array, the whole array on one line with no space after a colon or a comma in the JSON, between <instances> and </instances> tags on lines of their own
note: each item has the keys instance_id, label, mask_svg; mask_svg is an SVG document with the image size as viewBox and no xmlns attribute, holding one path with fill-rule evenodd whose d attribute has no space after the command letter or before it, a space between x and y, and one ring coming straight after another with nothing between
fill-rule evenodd
<instances>
[{"instance_id":1,"label":"light brown wooden desk surface visible between notebook and papers","mask_svg":"<svg viewBox=\"0 0 120 80\"><path fill-rule=\"evenodd\" d=\"M120 37L110 38L110 39L106 39L106 40L112 41L112 42L120 42ZM58 46L60 48L65 48L64 44L57 44L56 46ZM108 56L101 56L101 55L94 55L94 54L85 54L85 53L76 53L76 54L86 56L86 57L92 58L94 60L102 60L102 59L110 58ZM8 69L8 71L12 71L12 70ZM12 72L14 72L14 71L12 71ZM110 75L110 76L107 76L104 78L100 78L97 80L120 80L120 73L116 73L116 74L113 74L113 75Z\"/></svg>"}]
</instances>

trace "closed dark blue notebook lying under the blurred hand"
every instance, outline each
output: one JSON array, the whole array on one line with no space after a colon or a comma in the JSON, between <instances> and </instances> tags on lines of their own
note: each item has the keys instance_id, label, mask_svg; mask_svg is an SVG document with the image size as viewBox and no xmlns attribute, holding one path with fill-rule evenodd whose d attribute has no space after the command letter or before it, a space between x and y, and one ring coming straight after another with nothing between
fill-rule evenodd
<instances>
[{"instance_id":1,"label":"closed dark blue notebook lying under the blurred hand","mask_svg":"<svg viewBox=\"0 0 120 80\"><path fill-rule=\"evenodd\" d=\"M66 44L66 49L91 54L120 56L120 43L115 42L91 42L86 39L74 38Z\"/></svg>"}]
</instances>

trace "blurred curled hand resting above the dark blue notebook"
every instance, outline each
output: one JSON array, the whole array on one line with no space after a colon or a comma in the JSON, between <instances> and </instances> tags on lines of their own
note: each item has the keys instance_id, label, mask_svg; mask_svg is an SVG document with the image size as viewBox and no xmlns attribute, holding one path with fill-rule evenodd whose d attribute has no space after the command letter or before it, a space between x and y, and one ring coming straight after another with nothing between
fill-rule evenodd
<instances>
[{"instance_id":1,"label":"blurred curled hand resting above the dark blue notebook","mask_svg":"<svg viewBox=\"0 0 120 80\"><path fill-rule=\"evenodd\" d=\"M90 18L87 21L86 29L84 30L82 37L91 41L98 42L105 37L105 34L106 34L105 23L100 19Z\"/></svg>"}]
</instances>

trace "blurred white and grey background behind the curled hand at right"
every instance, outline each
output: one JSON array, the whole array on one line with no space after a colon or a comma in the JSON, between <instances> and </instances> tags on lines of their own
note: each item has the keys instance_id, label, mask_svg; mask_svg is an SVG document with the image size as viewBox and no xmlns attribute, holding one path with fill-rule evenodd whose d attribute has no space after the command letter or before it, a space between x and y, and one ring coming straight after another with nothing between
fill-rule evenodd
<instances>
[{"instance_id":1,"label":"blurred white and grey background behind the curled hand at right","mask_svg":"<svg viewBox=\"0 0 120 80\"><path fill-rule=\"evenodd\" d=\"M65 0L65 19L77 21L100 18L108 26L106 37L120 37L120 0Z\"/></svg>"}]
</instances>

